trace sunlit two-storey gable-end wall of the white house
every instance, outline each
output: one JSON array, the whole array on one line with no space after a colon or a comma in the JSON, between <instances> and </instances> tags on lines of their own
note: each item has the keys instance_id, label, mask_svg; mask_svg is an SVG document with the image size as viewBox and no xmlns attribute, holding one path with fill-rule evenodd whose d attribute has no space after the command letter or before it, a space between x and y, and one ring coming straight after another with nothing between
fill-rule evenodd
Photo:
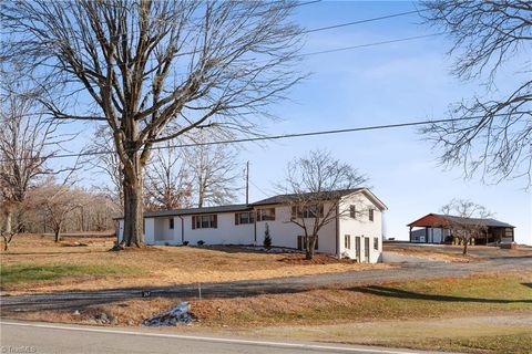
<instances>
[{"instance_id":1,"label":"sunlit two-storey gable-end wall of the white house","mask_svg":"<svg viewBox=\"0 0 532 354\"><path fill-rule=\"evenodd\" d=\"M349 216L349 208L354 205L356 217ZM369 261L376 263L380 261L382 253L382 211L364 192L356 192L341 199L339 220L340 254L350 259L357 258L356 237L360 238L360 261L365 262L365 239L369 239ZM369 209L374 209L374 221L369 220ZM345 246L345 237L350 237L350 249ZM375 239L378 241L378 250L375 250Z\"/></svg>"}]
</instances>

